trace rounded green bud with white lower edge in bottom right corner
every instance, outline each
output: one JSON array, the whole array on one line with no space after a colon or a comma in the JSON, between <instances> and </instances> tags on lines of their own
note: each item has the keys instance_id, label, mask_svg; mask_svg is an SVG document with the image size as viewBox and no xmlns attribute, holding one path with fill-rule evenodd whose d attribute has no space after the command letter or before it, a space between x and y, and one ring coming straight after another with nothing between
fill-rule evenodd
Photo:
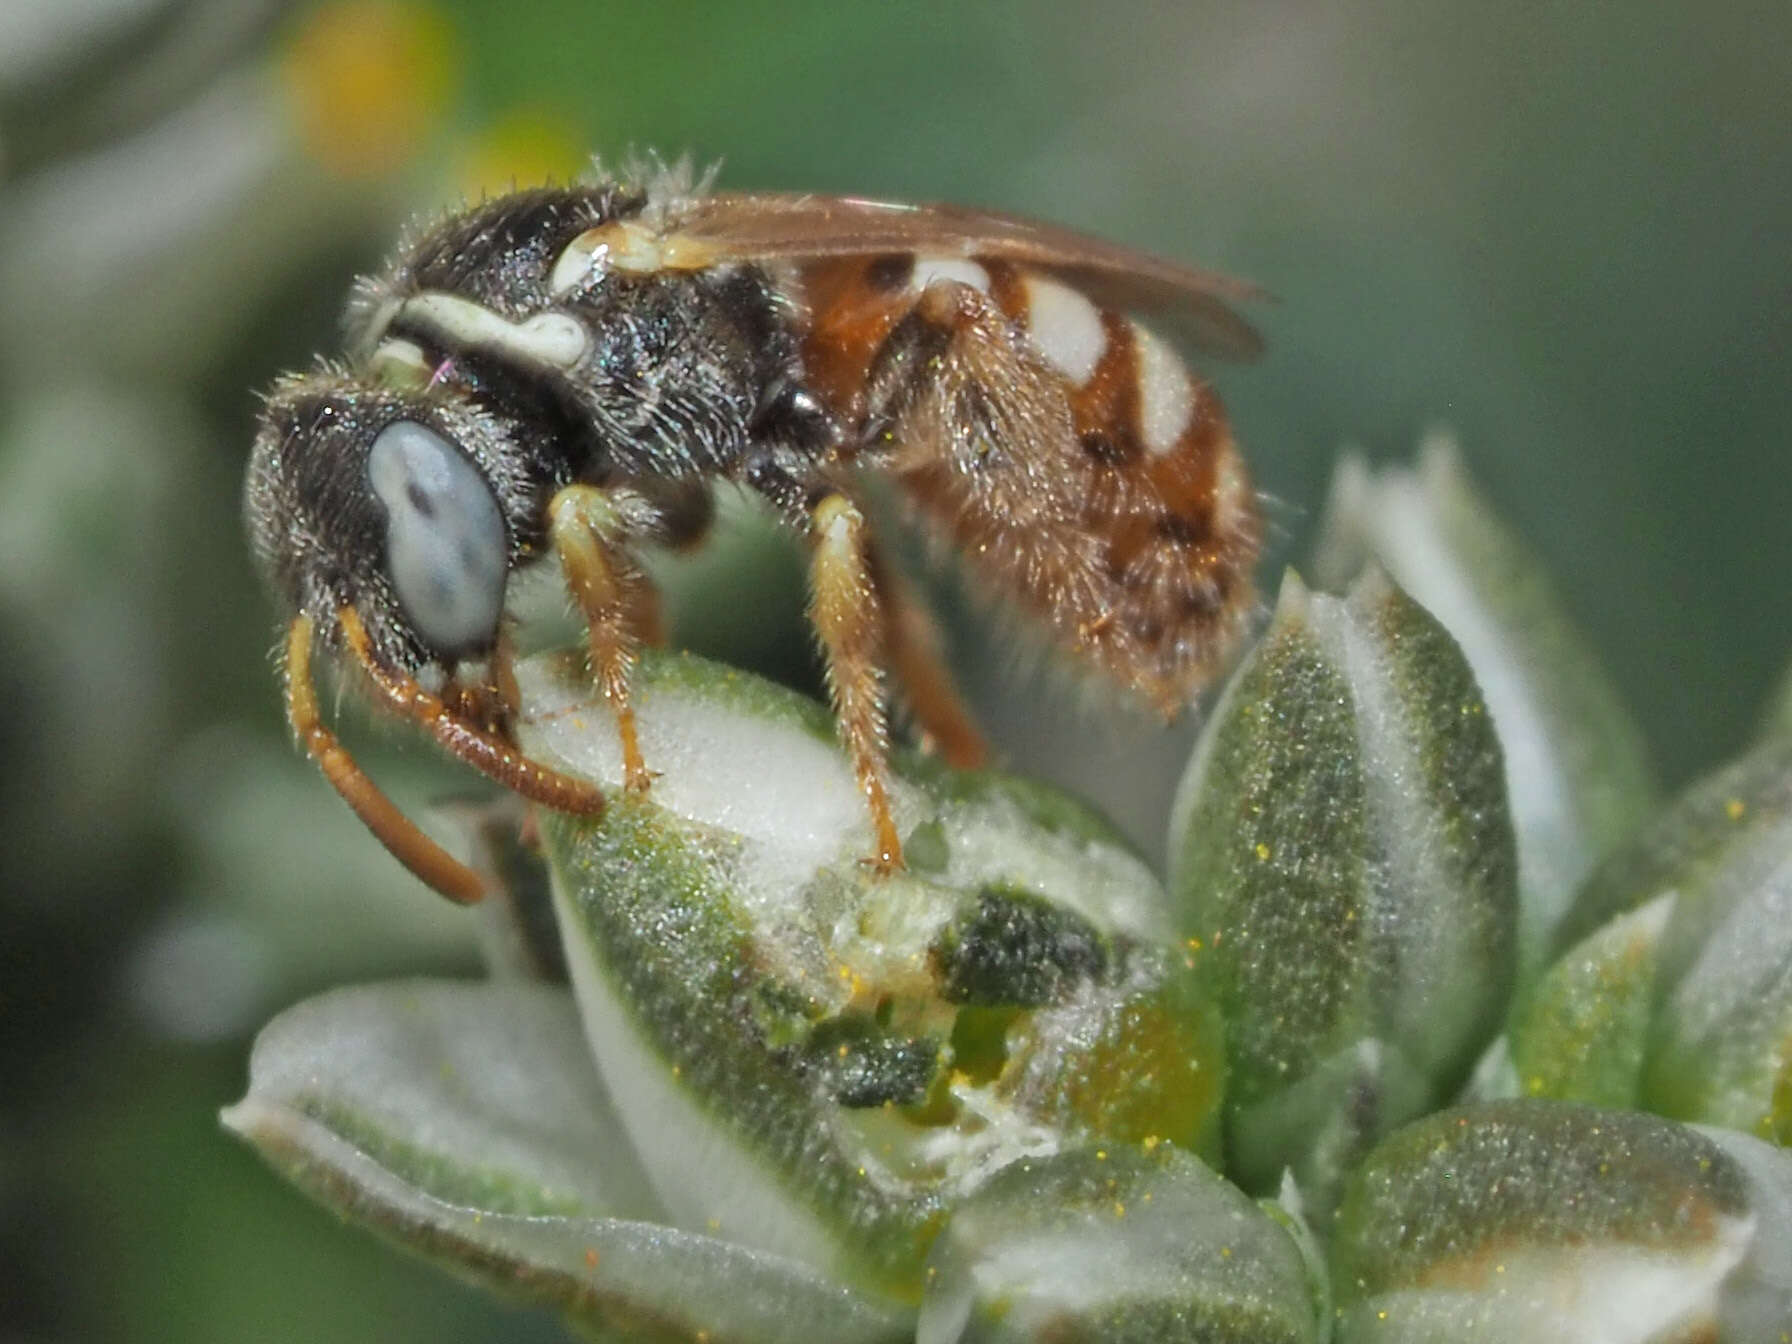
<instances>
[{"instance_id":1,"label":"rounded green bud with white lower edge in bottom right corner","mask_svg":"<svg viewBox=\"0 0 1792 1344\"><path fill-rule=\"evenodd\" d=\"M1346 1185L1335 1339L1765 1344L1792 1306L1792 1163L1749 1161L1760 1172L1636 1111L1511 1100L1428 1116Z\"/></svg>"}]
</instances>

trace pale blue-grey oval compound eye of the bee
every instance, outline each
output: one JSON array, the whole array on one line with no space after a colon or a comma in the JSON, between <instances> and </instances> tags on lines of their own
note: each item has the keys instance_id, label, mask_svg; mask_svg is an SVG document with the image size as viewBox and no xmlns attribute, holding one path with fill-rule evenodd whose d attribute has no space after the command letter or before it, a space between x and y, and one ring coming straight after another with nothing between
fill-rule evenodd
<instances>
[{"instance_id":1,"label":"pale blue-grey oval compound eye of the bee","mask_svg":"<svg viewBox=\"0 0 1792 1344\"><path fill-rule=\"evenodd\" d=\"M410 419L380 430L367 480L385 505L385 568L437 652L489 649L504 609L504 516L466 453Z\"/></svg>"}]
</instances>

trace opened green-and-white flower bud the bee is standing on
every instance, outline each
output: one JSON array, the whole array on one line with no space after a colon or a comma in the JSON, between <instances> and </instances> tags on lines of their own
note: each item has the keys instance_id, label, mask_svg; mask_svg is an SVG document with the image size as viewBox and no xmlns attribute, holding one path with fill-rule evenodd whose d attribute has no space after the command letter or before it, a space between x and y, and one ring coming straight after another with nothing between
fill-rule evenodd
<instances>
[{"instance_id":1,"label":"opened green-and-white flower bud the bee is standing on","mask_svg":"<svg viewBox=\"0 0 1792 1344\"><path fill-rule=\"evenodd\" d=\"M618 785L582 667L520 679L529 753ZM1106 823L898 760L909 866L880 878L821 706L694 658L636 686L663 776L543 831L599 1068L676 1224L912 1296L946 1211L1016 1159L1217 1152L1217 1016Z\"/></svg>"}]
</instances>

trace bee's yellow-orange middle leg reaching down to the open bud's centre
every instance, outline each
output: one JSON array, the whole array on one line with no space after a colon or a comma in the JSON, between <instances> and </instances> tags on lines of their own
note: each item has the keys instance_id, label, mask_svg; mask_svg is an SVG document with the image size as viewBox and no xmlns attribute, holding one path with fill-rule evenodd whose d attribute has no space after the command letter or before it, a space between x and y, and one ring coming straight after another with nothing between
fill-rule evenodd
<instances>
[{"instance_id":1,"label":"bee's yellow-orange middle leg reaching down to the open bud's centre","mask_svg":"<svg viewBox=\"0 0 1792 1344\"><path fill-rule=\"evenodd\" d=\"M883 615L866 541L866 520L844 495L824 495L808 516L810 620L828 656L828 692L858 788L871 808L876 844L867 860L878 873L903 866L891 815L889 726L883 715Z\"/></svg>"}]
</instances>

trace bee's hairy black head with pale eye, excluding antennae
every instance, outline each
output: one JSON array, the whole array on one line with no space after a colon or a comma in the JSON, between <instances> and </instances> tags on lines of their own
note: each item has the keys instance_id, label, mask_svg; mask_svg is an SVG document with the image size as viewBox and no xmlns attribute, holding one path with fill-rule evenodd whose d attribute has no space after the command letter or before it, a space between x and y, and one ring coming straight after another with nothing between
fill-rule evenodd
<instances>
[{"instance_id":1,"label":"bee's hairy black head with pale eye, excluding antennae","mask_svg":"<svg viewBox=\"0 0 1792 1344\"><path fill-rule=\"evenodd\" d=\"M461 396L287 380L249 461L249 536L332 643L353 606L389 667L448 672L493 649L505 579L527 557L529 446L521 423Z\"/></svg>"}]
</instances>

